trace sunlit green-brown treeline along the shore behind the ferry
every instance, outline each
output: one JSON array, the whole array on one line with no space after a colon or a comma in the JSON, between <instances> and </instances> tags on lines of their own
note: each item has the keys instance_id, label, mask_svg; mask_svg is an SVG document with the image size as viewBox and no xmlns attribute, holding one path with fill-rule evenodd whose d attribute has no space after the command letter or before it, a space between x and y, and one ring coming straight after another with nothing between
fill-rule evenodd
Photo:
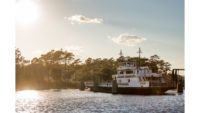
<instances>
[{"instance_id":1,"label":"sunlit green-brown treeline along the shore behind the ferry","mask_svg":"<svg viewBox=\"0 0 200 113\"><path fill-rule=\"evenodd\" d=\"M51 50L40 57L26 60L16 49L16 89L78 88L80 81L111 81L120 59L87 58L84 62L68 51ZM138 61L138 57L129 57ZM166 73L170 63L153 55L141 58L141 66L149 66L153 72Z\"/></svg>"}]
</instances>

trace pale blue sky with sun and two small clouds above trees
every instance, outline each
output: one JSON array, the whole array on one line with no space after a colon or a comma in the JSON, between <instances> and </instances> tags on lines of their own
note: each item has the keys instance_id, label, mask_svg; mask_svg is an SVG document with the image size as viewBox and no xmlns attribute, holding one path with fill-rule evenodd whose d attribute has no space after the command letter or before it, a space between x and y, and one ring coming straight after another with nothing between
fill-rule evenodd
<instances>
[{"instance_id":1,"label":"pale blue sky with sun and two small clouds above trees","mask_svg":"<svg viewBox=\"0 0 200 113\"><path fill-rule=\"evenodd\" d=\"M26 59L52 49L77 58L149 58L184 68L184 0L17 0L16 48Z\"/></svg>"}]
</instances>

